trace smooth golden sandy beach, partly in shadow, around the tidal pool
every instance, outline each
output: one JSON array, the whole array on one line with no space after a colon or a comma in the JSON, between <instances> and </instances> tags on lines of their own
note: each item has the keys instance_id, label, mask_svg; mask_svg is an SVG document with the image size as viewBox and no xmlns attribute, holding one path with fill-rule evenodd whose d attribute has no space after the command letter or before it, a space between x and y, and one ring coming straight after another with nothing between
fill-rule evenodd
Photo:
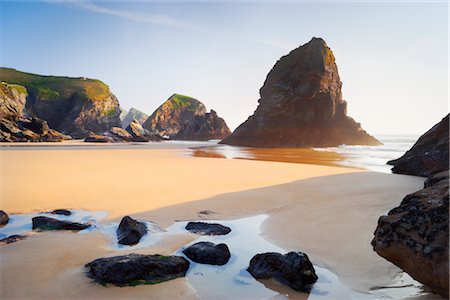
<instances>
[{"instance_id":1,"label":"smooth golden sandy beach, partly in shadow, around the tidal pool","mask_svg":"<svg viewBox=\"0 0 450 300\"><path fill-rule=\"evenodd\" d=\"M379 216L405 194L420 189L423 178L312 164L200 158L187 152L186 147L3 148L1 208L8 213L57 208L107 211L103 223L131 215L161 227L177 220L267 214L265 239L286 250L306 252L314 264L330 269L354 290L369 292L389 285L399 273L372 250L370 241ZM199 214L204 210L211 212ZM192 234L180 234L133 252L167 255L193 239ZM91 283L83 266L118 255L109 243L94 231L36 234L1 246L1 298L202 298L183 278L126 288Z\"/></svg>"}]
</instances>

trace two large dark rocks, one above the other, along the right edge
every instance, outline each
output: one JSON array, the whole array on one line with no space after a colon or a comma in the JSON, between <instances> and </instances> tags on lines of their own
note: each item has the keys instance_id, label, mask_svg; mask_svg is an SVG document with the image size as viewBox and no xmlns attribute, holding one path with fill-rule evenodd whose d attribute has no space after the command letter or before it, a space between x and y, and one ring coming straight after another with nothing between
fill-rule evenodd
<instances>
[{"instance_id":1,"label":"two large dark rocks, one above the other, along the right edge","mask_svg":"<svg viewBox=\"0 0 450 300\"><path fill-rule=\"evenodd\" d=\"M449 116L422 135L393 172L428 176L378 220L374 250L432 291L449 296Z\"/></svg>"}]
</instances>

